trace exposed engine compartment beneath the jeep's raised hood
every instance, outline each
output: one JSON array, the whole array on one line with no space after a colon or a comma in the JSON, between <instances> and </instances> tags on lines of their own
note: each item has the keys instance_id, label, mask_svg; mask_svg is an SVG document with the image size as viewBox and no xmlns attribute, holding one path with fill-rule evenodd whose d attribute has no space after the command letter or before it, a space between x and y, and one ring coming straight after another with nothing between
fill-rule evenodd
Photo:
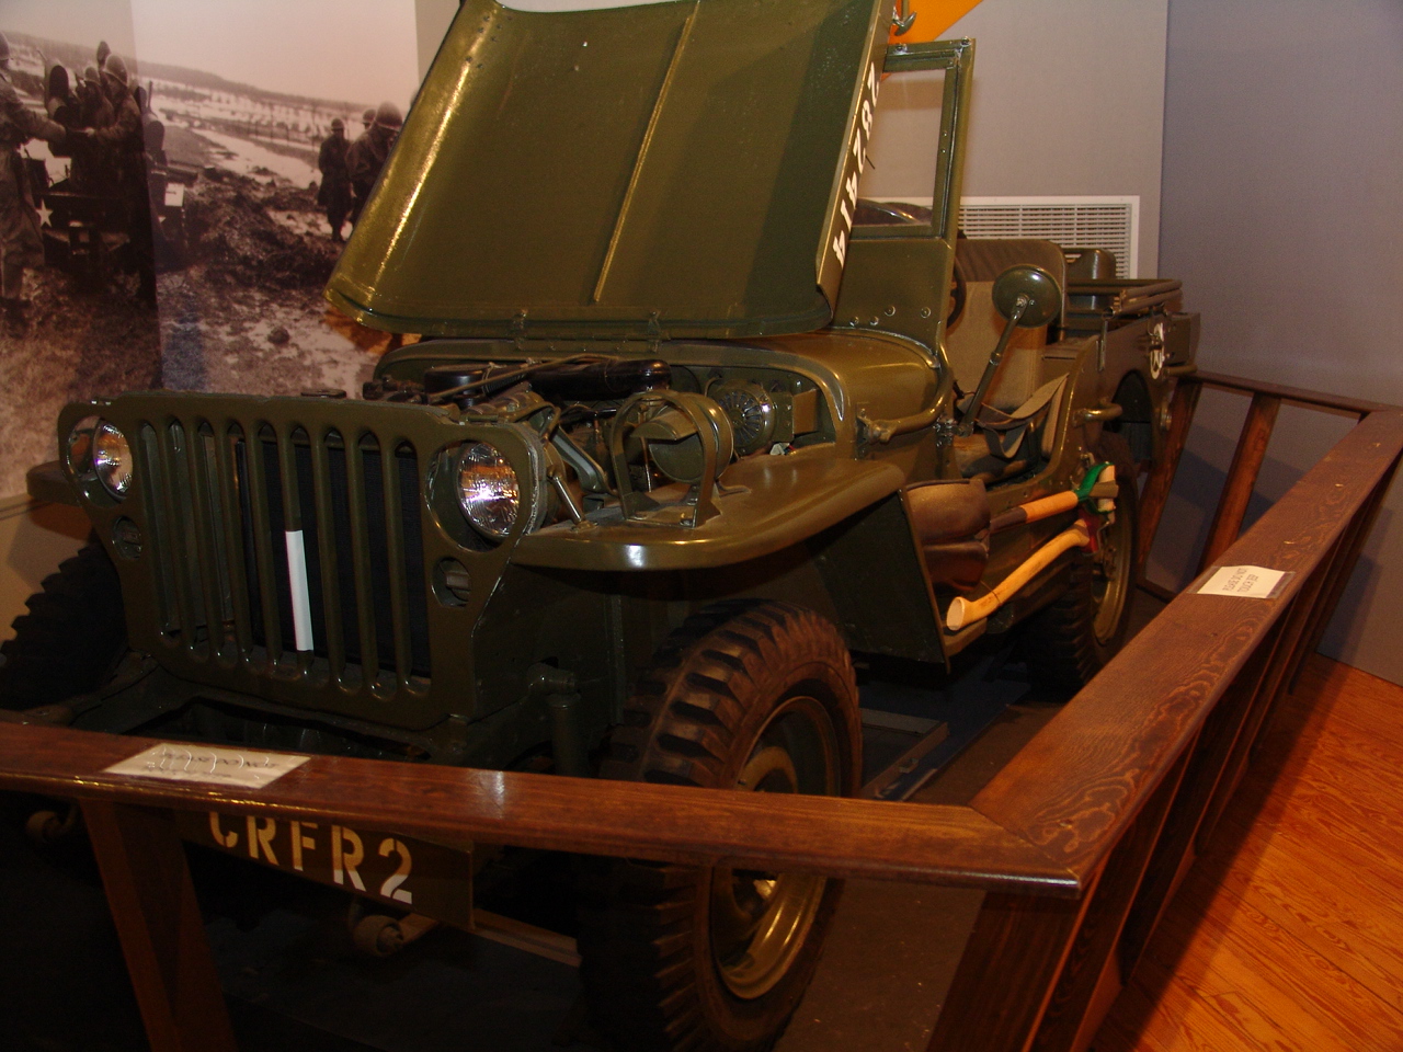
<instances>
[{"instance_id":1,"label":"exposed engine compartment beneath the jeep's raised hood","mask_svg":"<svg viewBox=\"0 0 1403 1052\"><path fill-rule=\"evenodd\" d=\"M414 379L382 375L368 401L455 405L463 419L513 425L540 443L539 529L637 522L697 526L716 513L737 460L787 456L833 440L812 379L781 369L673 365L658 358L579 353L551 359L436 363ZM521 480L490 443L449 450L431 488L452 495L476 537L506 536ZM445 492L448 491L448 492Z\"/></svg>"}]
</instances>

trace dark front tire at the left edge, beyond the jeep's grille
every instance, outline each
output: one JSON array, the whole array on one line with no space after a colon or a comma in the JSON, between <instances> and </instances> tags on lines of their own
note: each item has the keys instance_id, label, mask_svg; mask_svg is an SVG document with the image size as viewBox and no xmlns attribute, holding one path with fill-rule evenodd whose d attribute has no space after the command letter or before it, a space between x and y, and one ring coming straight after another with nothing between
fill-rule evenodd
<instances>
[{"instance_id":1,"label":"dark front tire at the left edge, beyond the jeep's grille","mask_svg":"<svg viewBox=\"0 0 1403 1052\"><path fill-rule=\"evenodd\" d=\"M88 544L43 579L0 644L0 708L25 710L97 690L126 654L116 567Z\"/></svg>"}]
</instances>

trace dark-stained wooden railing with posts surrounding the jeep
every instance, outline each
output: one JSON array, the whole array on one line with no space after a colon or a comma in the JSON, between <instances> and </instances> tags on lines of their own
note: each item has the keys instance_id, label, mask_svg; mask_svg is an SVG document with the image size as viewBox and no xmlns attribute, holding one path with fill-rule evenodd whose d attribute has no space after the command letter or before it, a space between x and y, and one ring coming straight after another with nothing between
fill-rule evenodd
<instances>
[{"instance_id":1,"label":"dark-stained wooden railing with posts surrounding the jeep","mask_svg":"<svg viewBox=\"0 0 1403 1052\"><path fill-rule=\"evenodd\" d=\"M157 1052L234 1046L173 819L212 809L449 843L981 888L930 1049L1086 1048L1319 638L1403 452L1400 410L1186 377L1170 457L1145 490L1149 539L1202 384L1247 391L1256 407L1205 562L1295 576L1267 600L1174 598L968 807L323 756L257 793L229 793L101 773L147 741L10 722L0 722L0 787L81 802ZM1361 422L1232 541L1280 401Z\"/></svg>"}]
</instances>

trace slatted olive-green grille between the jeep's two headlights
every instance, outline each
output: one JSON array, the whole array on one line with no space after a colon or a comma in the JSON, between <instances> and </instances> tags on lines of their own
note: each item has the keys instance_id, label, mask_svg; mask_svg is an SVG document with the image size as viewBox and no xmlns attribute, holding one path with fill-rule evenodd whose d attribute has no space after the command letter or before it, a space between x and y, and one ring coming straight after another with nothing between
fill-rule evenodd
<instances>
[{"instance_id":1,"label":"slatted olive-green grille between the jeep's two headlights","mask_svg":"<svg viewBox=\"0 0 1403 1052\"><path fill-rule=\"evenodd\" d=\"M258 419L143 421L136 470L163 641L261 677L382 697L425 689L422 464L410 442L390 442Z\"/></svg>"}]
</instances>

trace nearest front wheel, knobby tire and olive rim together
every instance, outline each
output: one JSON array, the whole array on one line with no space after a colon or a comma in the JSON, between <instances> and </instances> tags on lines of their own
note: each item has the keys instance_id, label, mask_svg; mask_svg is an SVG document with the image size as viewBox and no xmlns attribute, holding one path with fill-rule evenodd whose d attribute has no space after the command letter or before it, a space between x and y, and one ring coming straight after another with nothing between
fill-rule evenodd
<instances>
[{"instance_id":1,"label":"nearest front wheel, knobby tire and olive rim together","mask_svg":"<svg viewBox=\"0 0 1403 1052\"><path fill-rule=\"evenodd\" d=\"M689 619L638 680L605 777L850 795L860 776L852 661L788 603ZM769 1049L818 964L840 881L643 861L585 863L581 980L624 1052Z\"/></svg>"}]
</instances>

